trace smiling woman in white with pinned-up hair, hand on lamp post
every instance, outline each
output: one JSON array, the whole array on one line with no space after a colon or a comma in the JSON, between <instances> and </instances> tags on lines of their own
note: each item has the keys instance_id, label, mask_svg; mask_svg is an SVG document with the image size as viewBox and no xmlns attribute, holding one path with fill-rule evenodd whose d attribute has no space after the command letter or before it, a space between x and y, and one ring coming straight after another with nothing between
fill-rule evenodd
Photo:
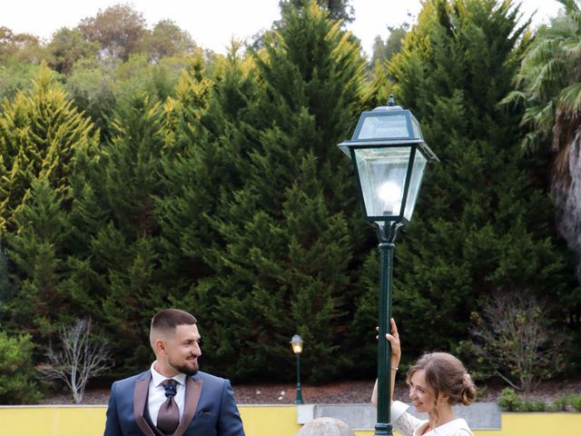
<instances>
[{"instance_id":1,"label":"smiling woman in white with pinned-up hair, hand on lamp post","mask_svg":"<svg viewBox=\"0 0 581 436\"><path fill-rule=\"evenodd\" d=\"M407 412L408 405L392 401L401 346L396 322L391 320L391 424L403 436L468 436L468 424L454 416L452 406L468 406L476 399L476 386L462 362L448 352L424 354L409 368L407 382L409 400L417 411L428 413L428 420L419 420ZM378 383L375 382L371 402L377 406Z\"/></svg>"}]
</instances>

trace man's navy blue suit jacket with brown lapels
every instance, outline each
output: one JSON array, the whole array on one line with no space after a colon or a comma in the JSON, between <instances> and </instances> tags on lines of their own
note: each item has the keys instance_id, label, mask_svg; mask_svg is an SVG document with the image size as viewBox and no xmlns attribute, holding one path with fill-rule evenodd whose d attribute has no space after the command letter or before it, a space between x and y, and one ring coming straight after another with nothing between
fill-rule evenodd
<instances>
[{"instance_id":1,"label":"man's navy blue suit jacket with brown lapels","mask_svg":"<svg viewBox=\"0 0 581 436\"><path fill-rule=\"evenodd\" d=\"M143 413L152 374L115 381L104 436L156 436ZM186 377L185 405L173 436L244 436L230 381L206 372Z\"/></svg>"}]
</instances>

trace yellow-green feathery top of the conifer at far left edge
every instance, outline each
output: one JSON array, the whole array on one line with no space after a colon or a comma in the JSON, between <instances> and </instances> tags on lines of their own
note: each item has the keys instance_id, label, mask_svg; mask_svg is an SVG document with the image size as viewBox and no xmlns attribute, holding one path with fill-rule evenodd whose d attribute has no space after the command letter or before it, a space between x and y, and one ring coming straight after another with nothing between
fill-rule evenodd
<instances>
[{"instance_id":1,"label":"yellow-green feathery top of the conifer at far left edge","mask_svg":"<svg viewBox=\"0 0 581 436\"><path fill-rule=\"evenodd\" d=\"M91 129L45 65L32 88L5 100L0 112L0 235L12 229L12 216L35 179L65 189L75 150L93 144Z\"/></svg>"}]
</instances>

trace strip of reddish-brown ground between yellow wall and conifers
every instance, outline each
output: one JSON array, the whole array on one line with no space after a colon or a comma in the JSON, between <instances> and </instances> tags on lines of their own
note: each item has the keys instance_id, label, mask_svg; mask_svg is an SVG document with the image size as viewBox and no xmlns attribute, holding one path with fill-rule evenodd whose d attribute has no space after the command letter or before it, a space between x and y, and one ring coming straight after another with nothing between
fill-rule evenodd
<instances>
[{"instance_id":1,"label":"strip of reddish-brown ground between yellow wall and conifers","mask_svg":"<svg viewBox=\"0 0 581 436\"><path fill-rule=\"evenodd\" d=\"M338 381L320 386L302 385L302 399L305 403L338 404L369 402L373 389L369 381ZM478 401L496 401L498 394L506 385L489 385L478 390ZM253 383L232 385L239 404L293 404L296 398L296 384L293 383ZM541 383L531 398L553 401L564 393L581 395L581 377L576 380L547 381ZM397 400L408 400L408 389L403 382L396 385ZM106 404L109 389L88 389L85 391L84 404ZM47 395L42 404L71 404L70 395L56 393Z\"/></svg>"}]
</instances>

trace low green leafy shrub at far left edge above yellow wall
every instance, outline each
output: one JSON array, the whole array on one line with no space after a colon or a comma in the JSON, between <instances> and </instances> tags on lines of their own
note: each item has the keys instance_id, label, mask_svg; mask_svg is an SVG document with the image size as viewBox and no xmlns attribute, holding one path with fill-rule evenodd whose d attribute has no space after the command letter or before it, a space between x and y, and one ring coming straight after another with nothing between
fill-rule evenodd
<instances>
[{"instance_id":1,"label":"low green leafy shrub at far left edge above yellow wall","mask_svg":"<svg viewBox=\"0 0 581 436\"><path fill-rule=\"evenodd\" d=\"M26 404L40 399L33 348L29 335L10 337L0 331L0 404Z\"/></svg>"}]
</instances>

